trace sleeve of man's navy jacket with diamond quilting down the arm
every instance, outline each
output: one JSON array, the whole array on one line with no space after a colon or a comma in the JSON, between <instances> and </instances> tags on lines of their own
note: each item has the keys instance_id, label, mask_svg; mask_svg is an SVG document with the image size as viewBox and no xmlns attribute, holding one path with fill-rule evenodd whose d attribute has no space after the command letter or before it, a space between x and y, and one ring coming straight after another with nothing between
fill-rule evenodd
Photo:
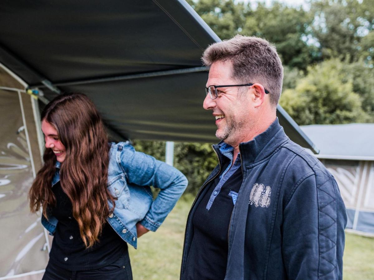
<instances>
[{"instance_id":1,"label":"sleeve of man's navy jacket with diamond quilting down the arm","mask_svg":"<svg viewBox=\"0 0 374 280\"><path fill-rule=\"evenodd\" d=\"M283 211L282 254L289 279L342 279L346 211L331 175L300 180Z\"/></svg>"}]
</instances>

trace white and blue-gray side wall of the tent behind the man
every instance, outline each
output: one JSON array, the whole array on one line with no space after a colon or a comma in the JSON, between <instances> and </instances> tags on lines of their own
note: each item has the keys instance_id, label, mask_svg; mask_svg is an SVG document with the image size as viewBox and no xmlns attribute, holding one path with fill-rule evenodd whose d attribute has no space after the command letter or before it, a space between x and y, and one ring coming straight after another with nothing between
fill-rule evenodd
<instances>
[{"instance_id":1,"label":"white and blue-gray side wall of the tent behind the man","mask_svg":"<svg viewBox=\"0 0 374 280\"><path fill-rule=\"evenodd\" d=\"M374 233L374 161L321 161L338 183L347 209L347 228Z\"/></svg>"}]
</instances>

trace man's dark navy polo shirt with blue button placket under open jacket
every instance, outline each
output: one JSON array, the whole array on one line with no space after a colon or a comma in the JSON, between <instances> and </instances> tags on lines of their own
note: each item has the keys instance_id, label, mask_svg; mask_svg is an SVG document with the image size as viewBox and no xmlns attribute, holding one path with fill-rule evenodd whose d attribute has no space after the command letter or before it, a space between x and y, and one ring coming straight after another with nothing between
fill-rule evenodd
<instances>
[{"instance_id":1,"label":"man's dark navy polo shirt with blue button placket under open jacket","mask_svg":"<svg viewBox=\"0 0 374 280\"><path fill-rule=\"evenodd\" d=\"M184 279L224 279L231 214L243 181L240 156L232 165L233 147L224 144L222 171L206 188L192 217L193 239Z\"/></svg>"}]
</instances>

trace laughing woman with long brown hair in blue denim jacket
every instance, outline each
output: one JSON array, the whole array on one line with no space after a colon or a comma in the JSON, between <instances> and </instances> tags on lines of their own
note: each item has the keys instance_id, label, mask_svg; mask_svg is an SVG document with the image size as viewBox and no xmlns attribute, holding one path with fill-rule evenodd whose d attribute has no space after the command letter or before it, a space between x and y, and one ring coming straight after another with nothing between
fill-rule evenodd
<instances>
[{"instance_id":1,"label":"laughing woman with long brown hair in blue denim jacket","mask_svg":"<svg viewBox=\"0 0 374 280\"><path fill-rule=\"evenodd\" d=\"M95 105L62 94L43 110L44 165L29 192L54 235L43 279L132 279L127 243L155 231L187 186L177 169L108 143ZM149 186L160 188L153 201Z\"/></svg>"}]
</instances>

